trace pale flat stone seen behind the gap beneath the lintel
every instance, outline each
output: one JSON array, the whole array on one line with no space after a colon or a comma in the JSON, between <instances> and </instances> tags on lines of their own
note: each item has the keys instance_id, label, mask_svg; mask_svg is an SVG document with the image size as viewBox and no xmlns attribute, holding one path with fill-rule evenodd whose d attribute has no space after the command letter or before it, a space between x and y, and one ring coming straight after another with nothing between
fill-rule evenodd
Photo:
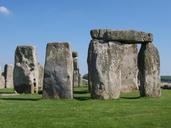
<instances>
[{"instance_id":1,"label":"pale flat stone seen behind the gap beneath the lintel","mask_svg":"<svg viewBox=\"0 0 171 128\"><path fill-rule=\"evenodd\" d=\"M121 62L121 92L138 89L138 48L136 44L124 44Z\"/></svg>"}]
</instances>

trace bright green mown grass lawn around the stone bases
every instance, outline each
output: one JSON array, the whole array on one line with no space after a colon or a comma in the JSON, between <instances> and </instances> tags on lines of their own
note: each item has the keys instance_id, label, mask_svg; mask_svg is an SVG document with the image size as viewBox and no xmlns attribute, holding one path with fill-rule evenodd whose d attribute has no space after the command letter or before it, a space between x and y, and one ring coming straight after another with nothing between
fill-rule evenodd
<instances>
[{"instance_id":1,"label":"bright green mown grass lawn around the stone bases","mask_svg":"<svg viewBox=\"0 0 171 128\"><path fill-rule=\"evenodd\" d=\"M171 91L160 98L138 92L118 100L91 100L85 87L74 100L44 100L41 95L0 97L0 128L170 128Z\"/></svg>"}]
</instances>

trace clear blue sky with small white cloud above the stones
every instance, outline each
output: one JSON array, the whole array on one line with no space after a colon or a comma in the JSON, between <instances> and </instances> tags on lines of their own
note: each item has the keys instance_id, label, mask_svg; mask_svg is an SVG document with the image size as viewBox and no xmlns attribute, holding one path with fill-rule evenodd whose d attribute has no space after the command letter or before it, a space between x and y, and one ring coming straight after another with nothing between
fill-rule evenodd
<instances>
[{"instance_id":1,"label":"clear blue sky with small white cloud above the stones","mask_svg":"<svg viewBox=\"0 0 171 128\"><path fill-rule=\"evenodd\" d=\"M26 44L37 47L43 64L46 44L66 41L86 73L94 28L153 33L161 74L171 75L171 0L0 0L0 65L13 63L16 46Z\"/></svg>"}]
</instances>

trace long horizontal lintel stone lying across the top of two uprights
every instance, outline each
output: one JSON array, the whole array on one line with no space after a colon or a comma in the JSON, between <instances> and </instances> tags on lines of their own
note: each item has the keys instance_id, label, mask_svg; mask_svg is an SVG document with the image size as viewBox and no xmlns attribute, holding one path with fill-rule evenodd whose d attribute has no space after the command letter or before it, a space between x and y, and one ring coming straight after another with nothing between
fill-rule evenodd
<instances>
[{"instance_id":1,"label":"long horizontal lintel stone lying across the top of two uprights","mask_svg":"<svg viewBox=\"0 0 171 128\"><path fill-rule=\"evenodd\" d=\"M91 30L91 37L93 39L119 41L122 43L143 43L153 41L153 35L151 33L135 30L95 29Z\"/></svg>"}]
</instances>

